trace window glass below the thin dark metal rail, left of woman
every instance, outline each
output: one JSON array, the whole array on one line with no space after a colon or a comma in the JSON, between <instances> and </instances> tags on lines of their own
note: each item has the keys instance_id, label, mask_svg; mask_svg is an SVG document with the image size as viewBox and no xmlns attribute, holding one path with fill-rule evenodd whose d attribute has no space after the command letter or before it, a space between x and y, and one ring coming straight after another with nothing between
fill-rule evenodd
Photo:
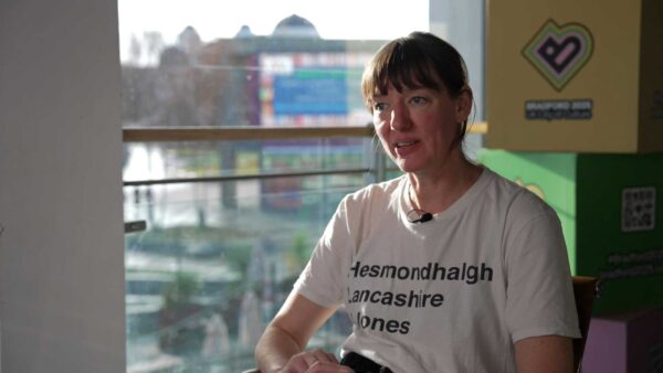
<instances>
[{"instance_id":1,"label":"window glass below the thin dark metal rail, left of woman","mask_svg":"<svg viewBox=\"0 0 663 373\"><path fill-rule=\"evenodd\" d=\"M328 216L366 182L361 174L266 181L126 188L127 217L148 226L126 235L129 371L251 367L257 338ZM234 191L230 203L224 189ZM339 312L312 345L335 351L348 332Z\"/></svg>"}]
</instances>

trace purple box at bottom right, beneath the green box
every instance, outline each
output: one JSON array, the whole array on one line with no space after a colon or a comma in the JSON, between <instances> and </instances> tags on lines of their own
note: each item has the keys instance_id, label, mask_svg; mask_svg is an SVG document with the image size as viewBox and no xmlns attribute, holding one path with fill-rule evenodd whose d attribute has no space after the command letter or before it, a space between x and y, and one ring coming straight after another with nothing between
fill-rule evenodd
<instances>
[{"instance_id":1,"label":"purple box at bottom right, beneath the green box","mask_svg":"<svg viewBox=\"0 0 663 373\"><path fill-rule=\"evenodd\" d=\"M582 373L663 372L663 309L592 318Z\"/></svg>"}]
</instances>

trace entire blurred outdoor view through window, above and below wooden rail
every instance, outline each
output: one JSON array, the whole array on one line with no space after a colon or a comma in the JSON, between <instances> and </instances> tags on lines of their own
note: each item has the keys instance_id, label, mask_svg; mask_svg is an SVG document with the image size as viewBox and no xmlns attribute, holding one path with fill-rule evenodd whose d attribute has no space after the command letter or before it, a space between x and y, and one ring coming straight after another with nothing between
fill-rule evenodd
<instances>
[{"instance_id":1,"label":"entire blurred outdoor view through window, above and below wooden rail","mask_svg":"<svg viewBox=\"0 0 663 373\"><path fill-rule=\"evenodd\" d=\"M364 64L429 24L428 0L119 0L124 128L367 128ZM337 203L378 178L370 135L339 134L125 137L127 372L254 365ZM350 328L339 311L312 345Z\"/></svg>"}]
</instances>

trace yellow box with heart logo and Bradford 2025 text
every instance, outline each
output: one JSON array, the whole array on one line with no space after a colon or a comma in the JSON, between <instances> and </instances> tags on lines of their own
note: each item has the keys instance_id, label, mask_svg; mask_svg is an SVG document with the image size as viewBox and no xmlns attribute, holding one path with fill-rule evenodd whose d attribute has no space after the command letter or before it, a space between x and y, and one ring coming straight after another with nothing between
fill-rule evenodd
<instances>
[{"instance_id":1,"label":"yellow box with heart logo and Bradford 2025 text","mask_svg":"<svg viewBox=\"0 0 663 373\"><path fill-rule=\"evenodd\" d=\"M487 147L663 150L663 1L488 2Z\"/></svg>"}]
</instances>

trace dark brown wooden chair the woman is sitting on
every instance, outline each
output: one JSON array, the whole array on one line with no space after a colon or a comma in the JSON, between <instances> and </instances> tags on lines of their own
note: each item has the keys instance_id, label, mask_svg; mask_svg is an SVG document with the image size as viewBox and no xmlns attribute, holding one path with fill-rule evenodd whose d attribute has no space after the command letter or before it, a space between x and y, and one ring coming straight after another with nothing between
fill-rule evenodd
<instances>
[{"instance_id":1,"label":"dark brown wooden chair the woman is sitting on","mask_svg":"<svg viewBox=\"0 0 663 373\"><path fill-rule=\"evenodd\" d=\"M591 321L591 309L593 300L599 295L599 281L596 277L573 276L573 297L576 298L576 310L578 311L578 324L582 338L573 340L573 373L580 372L580 362L585 352L589 322ZM248 370L242 373L261 373L259 370Z\"/></svg>"}]
</instances>

